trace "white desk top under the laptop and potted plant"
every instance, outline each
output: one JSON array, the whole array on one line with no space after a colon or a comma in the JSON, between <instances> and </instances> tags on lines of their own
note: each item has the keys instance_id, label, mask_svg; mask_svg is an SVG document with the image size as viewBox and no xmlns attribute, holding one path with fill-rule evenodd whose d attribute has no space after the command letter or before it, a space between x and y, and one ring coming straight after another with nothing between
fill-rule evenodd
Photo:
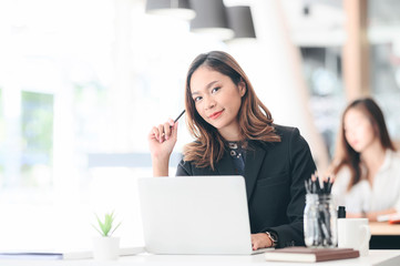
<instances>
[{"instance_id":1,"label":"white desk top under the laptop and potted plant","mask_svg":"<svg viewBox=\"0 0 400 266\"><path fill-rule=\"evenodd\" d=\"M0 259L0 265L7 266L132 266L132 265L152 265L152 266L175 266L175 265L294 265L294 263L277 263L266 262L264 255L253 256L185 256L185 255L151 255L140 254L135 256L124 256L115 262L95 262L93 259L80 259L80 260L6 260ZM400 250L370 250L369 256L359 257L352 259L340 259L324 262L318 264L305 264L298 265L375 265L375 266L399 266L400 265Z\"/></svg>"}]
</instances>

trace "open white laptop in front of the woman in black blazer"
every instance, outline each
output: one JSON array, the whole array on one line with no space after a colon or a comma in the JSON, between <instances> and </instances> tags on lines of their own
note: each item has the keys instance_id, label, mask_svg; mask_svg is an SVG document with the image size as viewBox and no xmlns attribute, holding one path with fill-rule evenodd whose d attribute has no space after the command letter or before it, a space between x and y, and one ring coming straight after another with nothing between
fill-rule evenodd
<instances>
[{"instance_id":1,"label":"open white laptop in front of the woman in black blazer","mask_svg":"<svg viewBox=\"0 0 400 266\"><path fill-rule=\"evenodd\" d=\"M250 255L243 176L139 178L145 248L153 254Z\"/></svg>"}]
</instances>

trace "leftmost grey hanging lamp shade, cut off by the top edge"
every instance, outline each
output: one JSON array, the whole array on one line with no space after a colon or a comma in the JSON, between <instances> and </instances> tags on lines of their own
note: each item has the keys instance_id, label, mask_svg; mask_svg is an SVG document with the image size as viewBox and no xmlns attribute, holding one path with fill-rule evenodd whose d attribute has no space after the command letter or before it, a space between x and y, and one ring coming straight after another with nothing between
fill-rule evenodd
<instances>
[{"instance_id":1,"label":"leftmost grey hanging lamp shade, cut off by the top edge","mask_svg":"<svg viewBox=\"0 0 400 266\"><path fill-rule=\"evenodd\" d=\"M196 12L191 9L188 0L147 0L146 12L184 20L192 20L196 17Z\"/></svg>"}]
</instances>

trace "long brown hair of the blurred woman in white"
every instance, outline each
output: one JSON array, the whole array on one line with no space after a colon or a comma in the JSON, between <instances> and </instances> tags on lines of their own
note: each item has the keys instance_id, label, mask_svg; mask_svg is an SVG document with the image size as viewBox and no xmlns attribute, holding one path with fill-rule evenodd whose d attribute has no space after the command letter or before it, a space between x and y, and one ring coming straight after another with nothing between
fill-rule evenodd
<instances>
[{"instance_id":1,"label":"long brown hair of the blurred woman in white","mask_svg":"<svg viewBox=\"0 0 400 266\"><path fill-rule=\"evenodd\" d=\"M380 141L383 149L396 151L393 143L390 140L383 113L378 104L370 98L362 98L351 102L345 110L341 116L341 125L339 132L339 141L337 145L332 173L337 174L341 167L348 166L351 173L348 190L356 185L361 180L361 164L360 153L356 152L346 140L345 135L345 116L350 109L361 111L370 121L372 129Z\"/></svg>"}]
</instances>

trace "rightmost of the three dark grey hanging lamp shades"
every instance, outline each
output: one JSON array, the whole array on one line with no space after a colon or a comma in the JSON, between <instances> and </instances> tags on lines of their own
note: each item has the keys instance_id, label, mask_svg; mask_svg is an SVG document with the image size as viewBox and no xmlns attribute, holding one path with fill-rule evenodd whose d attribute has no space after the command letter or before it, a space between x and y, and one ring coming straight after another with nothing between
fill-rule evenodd
<instances>
[{"instance_id":1,"label":"rightmost of the three dark grey hanging lamp shades","mask_svg":"<svg viewBox=\"0 0 400 266\"><path fill-rule=\"evenodd\" d=\"M256 38L250 7L236 6L226 10L229 27L235 32L235 39Z\"/></svg>"}]
</instances>

